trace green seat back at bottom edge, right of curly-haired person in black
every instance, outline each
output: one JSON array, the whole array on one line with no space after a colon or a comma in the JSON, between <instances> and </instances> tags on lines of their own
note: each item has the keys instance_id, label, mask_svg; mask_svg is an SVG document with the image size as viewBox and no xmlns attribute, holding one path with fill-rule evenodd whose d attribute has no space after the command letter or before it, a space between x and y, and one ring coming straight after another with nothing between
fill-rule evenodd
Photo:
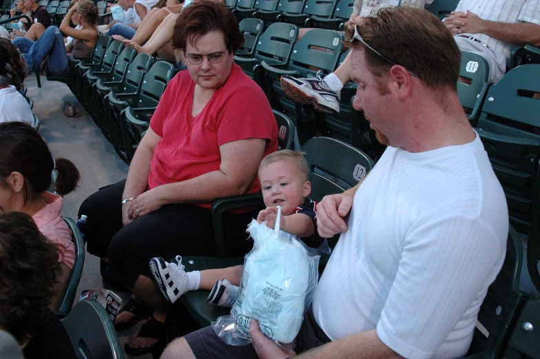
<instances>
[{"instance_id":1,"label":"green seat back at bottom edge, right of curly-haired person in black","mask_svg":"<svg viewBox=\"0 0 540 359\"><path fill-rule=\"evenodd\" d=\"M112 320L96 300L78 302L62 319L79 359L124 359L124 350Z\"/></svg>"}]
</instances>

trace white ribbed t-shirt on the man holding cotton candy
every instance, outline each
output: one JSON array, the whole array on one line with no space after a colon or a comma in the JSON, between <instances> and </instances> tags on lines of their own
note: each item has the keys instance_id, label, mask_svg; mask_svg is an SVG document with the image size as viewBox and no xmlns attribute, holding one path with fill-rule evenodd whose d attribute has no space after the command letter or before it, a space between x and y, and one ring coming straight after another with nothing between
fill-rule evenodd
<instances>
[{"instance_id":1,"label":"white ribbed t-shirt on the man holding cotton candy","mask_svg":"<svg viewBox=\"0 0 540 359\"><path fill-rule=\"evenodd\" d=\"M479 136L422 153L388 147L347 226L313 299L326 335L376 328L405 358L463 356L508 236L506 198Z\"/></svg>"}]
</instances>

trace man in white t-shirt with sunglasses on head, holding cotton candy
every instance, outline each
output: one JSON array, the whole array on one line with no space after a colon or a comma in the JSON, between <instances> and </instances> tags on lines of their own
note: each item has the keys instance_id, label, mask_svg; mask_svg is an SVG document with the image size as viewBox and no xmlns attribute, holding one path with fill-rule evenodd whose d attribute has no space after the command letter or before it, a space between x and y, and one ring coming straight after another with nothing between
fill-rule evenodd
<instances>
[{"instance_id":1,"label":"man in white t-shirt with sunglasses on head, holding cotton candy","mask_svg":"<svg viewBox=\"0 0 540 359\"><path fill-rule=\"evenodd\" d=\"M342 235L295 351L459 358L508 235L506 198L457 97L461 52L425 10L384 9L355 30L353 105L388 148L359 185L317 207L319 234ZM172 342L162 359L293 356L250 326L252 346L227 346L207 327Z\"/></svg>"}]
</instances>

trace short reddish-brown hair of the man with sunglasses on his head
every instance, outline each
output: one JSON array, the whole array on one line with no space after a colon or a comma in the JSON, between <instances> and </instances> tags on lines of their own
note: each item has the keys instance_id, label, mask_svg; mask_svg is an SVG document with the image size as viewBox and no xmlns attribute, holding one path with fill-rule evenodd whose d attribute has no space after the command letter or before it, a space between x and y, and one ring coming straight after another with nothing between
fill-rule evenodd
<instances>
[{"instance_id":1,"label":"short reddish-brown hair of the man with sunglasses on his head","mask_svg":"<svg viewBox=\"0 0 540 359\"><path fill-rule=\"evenodd\" d=\"M354 31L354 30L353 30ZM457 91L461 51L444 23L424 9L384 8L358 25L362 39L372 48L404 66L430 88ZM354 32L349 31L347 39ZM360 41L347 43L362 47ZM366 49L366 62L375 76L388 73L391 64Z\"/></svg>"}]
</instances>

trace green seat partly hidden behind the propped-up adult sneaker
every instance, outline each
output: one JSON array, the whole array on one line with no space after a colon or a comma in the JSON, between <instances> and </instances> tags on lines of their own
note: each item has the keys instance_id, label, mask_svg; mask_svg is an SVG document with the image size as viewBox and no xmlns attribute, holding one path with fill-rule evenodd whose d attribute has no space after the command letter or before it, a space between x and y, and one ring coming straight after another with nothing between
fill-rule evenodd
<instances>
[{"instance_id":1,"label":"green seat partly hidden behind the propped-up adult sneaker","mask_svg":"<svg viewBox=\"0 0 540 359\"><path fill-rule=\"evenodd\" d=\"M256 69L255 78L261 79L262 88L267 89L273 108L287 114L294 121L300 145L315 136L315 114L313 108L308 112L302 111L302 105L295 103L282 90L280 78L282 75L295 77L314 76L316 70L332 72L340 59L343 35L333 30L313 29L307 32L298 43L293 46L293 53L287 65L260 63ZM325 49L325 50L316 50ZM264 75L258 74L264 72Z\"/></svg>"}]
</instances>

